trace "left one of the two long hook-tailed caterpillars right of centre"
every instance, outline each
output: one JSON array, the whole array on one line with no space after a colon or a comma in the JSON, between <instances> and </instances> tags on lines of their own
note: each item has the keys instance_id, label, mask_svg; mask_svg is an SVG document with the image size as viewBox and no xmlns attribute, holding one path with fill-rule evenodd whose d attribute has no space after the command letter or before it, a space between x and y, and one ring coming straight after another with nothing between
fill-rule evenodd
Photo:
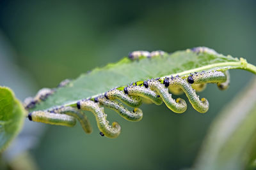
<instances>
[{"instance_id":1,"label":"left one of the two long hook-tailed caterpillars right of centre","mask_svg":"<svg viewBox=\"0 0 256 170\"><path fill-rule=\"evenodd\" d=\"M183 113L187 109L187 104L183 99L173 99L172 94L164 87L158 80L147 81L148 87L155 90L157 94L163 99L164 103L170 110L175 113Z\"/></svg>"}]
</instances>

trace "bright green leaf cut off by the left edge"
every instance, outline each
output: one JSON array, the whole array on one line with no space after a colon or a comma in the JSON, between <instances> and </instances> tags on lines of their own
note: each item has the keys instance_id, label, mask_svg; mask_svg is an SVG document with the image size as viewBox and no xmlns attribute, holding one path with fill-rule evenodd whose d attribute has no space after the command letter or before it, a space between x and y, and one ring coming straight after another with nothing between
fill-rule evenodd
<instances>
[{"instance_id":1,"label":"bright green leaf cut off by the left edge","mask_svg":"<svg viewBox=\"0 0 256 170\"><path fill-rule=\"evenodd\" d=\"M24 123L25 114L12 90L0 87L0 152L17 136Z\"/></svg>"}]
</instances>

